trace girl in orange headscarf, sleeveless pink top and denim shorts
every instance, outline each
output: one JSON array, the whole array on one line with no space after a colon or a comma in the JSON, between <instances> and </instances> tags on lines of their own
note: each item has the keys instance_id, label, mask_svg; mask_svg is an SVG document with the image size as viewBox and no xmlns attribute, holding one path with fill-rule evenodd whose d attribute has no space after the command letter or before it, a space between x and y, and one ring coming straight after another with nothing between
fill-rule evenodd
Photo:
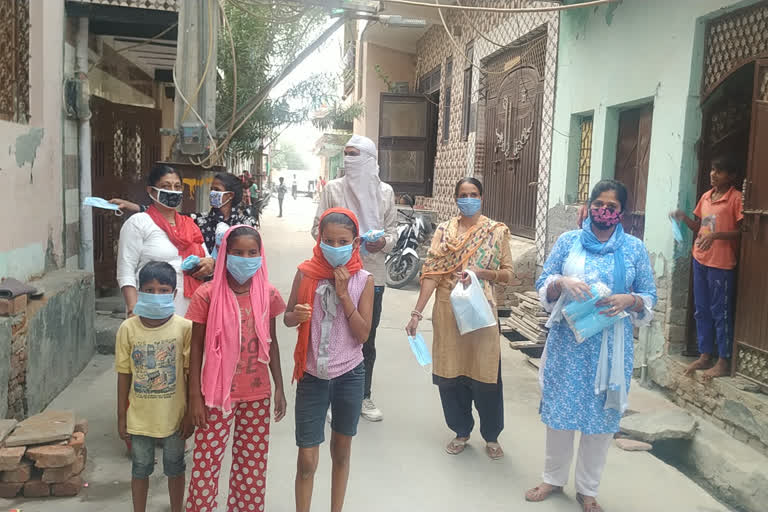
<instances>
[{"instance_id":1,"label":"girl in orange headscarf, sleeveless pink top and denim shorts","mask_svg":"<svg viewBox=\"0 0 768 512\"><path fill-rule=\"evenodd\" d=\"M349 480L352 438L363 402L363 343L373 316L373 277L360 259L355 215L331 208L320 219L312 259L299 265L285 325L299 327L294 352L296 389L296 510L309 512L312 487L325 441L328 407L331 429L331 512L341 512Z\"/></svg>"}]
</instances>

